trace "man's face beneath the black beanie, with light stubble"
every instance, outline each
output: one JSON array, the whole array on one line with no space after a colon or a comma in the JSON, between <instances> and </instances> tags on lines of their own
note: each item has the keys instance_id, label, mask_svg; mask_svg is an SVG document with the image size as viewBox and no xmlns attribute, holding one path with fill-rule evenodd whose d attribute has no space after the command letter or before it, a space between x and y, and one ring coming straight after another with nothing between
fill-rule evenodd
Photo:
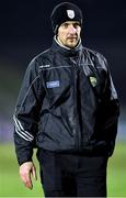
<instances>
[{"instance_id":1,"label":"man's face beneath the black beanie, with light stubble","mask_svg":"<svg viewBox=\"0 0 126 198\"><path fill-rule=\"evenodd\" d=\"M80 40L81 26L77 21L67 21L58 29L58 42L73 48Z\"/></svg>"}]
</instances>

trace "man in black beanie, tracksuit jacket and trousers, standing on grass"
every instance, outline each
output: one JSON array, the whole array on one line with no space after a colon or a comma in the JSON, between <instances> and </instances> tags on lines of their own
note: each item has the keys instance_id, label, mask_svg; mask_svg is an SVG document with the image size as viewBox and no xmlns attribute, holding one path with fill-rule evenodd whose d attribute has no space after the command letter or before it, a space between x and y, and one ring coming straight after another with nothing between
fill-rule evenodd
<instances>
[{"instance_id":1,"label":"man in black beanie, tracksuit jacket and trousers, standing on grass","mask_svg":"<svg viewBox=\"0 0 126 198\"><path fill-rule=\"evenodd\" d=\"M14 113L21 179L33 187L37 146L46 197L105 197L119 111L110 68L82 46L76 4L58 4L50 19L53 45L27 67Z\"/></svg>"}]
</instances>

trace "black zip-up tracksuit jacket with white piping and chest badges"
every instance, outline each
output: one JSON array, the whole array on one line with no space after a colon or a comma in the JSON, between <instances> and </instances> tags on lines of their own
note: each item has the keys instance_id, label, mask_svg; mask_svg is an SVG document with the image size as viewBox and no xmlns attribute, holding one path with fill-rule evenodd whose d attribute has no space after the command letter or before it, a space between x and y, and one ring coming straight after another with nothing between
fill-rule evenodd
<instances>
[{"instance_id":1,"label":"black zip-up tracksuit jacket with white piping and chest badges","mask_svg":"<svg viewBox=\"0 0 126 198\"><path fill-rule=\"evenodd\" d=\"M81 43L73 50L55 40L28 65L14 113L19 164L33 148L111 156L119 105L106 59Z\"/></svg>"}]
</instances>

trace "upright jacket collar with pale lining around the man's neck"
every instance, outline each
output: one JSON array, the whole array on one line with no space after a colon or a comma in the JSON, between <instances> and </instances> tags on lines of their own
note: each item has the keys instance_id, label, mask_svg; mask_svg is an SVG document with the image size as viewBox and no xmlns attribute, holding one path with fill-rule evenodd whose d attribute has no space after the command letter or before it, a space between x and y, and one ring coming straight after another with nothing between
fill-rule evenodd
<instances>
[{"instance_id":1,"label":"upright jacket collar with pale lining around the man's neck","mask_svg":"<svg viewBox=\"0 0 126 198\"><path fill-rule=\"evenodd\" d=\"M79 55L80 51L82 50L81 40L80 40L79 44L75 48L71 50L69 47L60 45L55 36L53 40L51 50L55 52L58 52L65 56L70 56L70 57L77 56L77 55Z\"/></svg>"}]
</instances>

